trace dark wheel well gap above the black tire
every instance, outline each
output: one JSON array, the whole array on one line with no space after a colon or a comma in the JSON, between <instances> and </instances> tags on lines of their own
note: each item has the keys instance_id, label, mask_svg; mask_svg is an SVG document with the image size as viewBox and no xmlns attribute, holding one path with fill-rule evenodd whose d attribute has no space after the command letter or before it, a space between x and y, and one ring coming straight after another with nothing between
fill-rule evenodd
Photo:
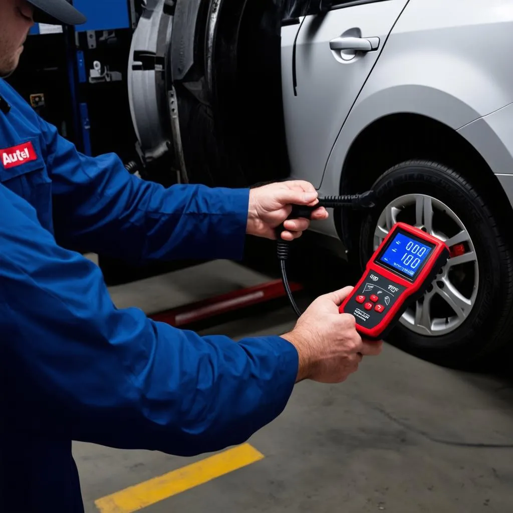
<instances>
[{"instance_id":1,"label":"dark wheel well gap above the black tire","mask_svg":"<svg viewBox=\"0 0 513 513\"><path fill-rule=\"evenodd\" d=\"M367 190L388 168L409 159L436 160L456 167L471 182L486 183L480 188L494 205L494 211L513 214L498 177L478 149L451 126L412 112L383 115L360 131L345 155L340 193ZM348 210L344 215L336 215L334 220L337 233L349 252L354 249L353 242L358 240L359 215L358 211Z\"/></svg>"}]
</instances>

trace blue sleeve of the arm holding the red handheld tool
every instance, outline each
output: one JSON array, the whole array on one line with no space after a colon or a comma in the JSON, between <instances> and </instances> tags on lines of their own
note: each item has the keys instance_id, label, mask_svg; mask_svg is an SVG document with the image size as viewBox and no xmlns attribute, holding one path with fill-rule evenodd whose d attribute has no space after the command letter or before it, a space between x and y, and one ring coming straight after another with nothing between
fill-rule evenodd
<instances>
[{"instance_id":1,"label":"blue sleeve of the arm holding the red handheld tool","mask_svg":"<svg viewBox=\"0 0 513 513\"><path fill-rule=\"evenodd\" d=\"M117 309L100 270L0 186L0 394L10 426L175 455L247 440L298 371L279 336L205 336Z\"/></svg>"}]
</instances>

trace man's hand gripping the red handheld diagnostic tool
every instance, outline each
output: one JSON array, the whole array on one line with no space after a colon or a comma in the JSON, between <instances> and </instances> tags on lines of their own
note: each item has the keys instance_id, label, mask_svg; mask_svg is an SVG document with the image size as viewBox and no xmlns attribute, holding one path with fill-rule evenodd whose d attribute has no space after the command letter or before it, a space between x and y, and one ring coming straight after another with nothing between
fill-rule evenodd
<instances>
[{"instance_id":1,"label":"man's hand gripping the red handheld diagnostic tool","mask_svg":"<svg viewBox=\"0 0 513 513\"><path fill-rule=\"evenodd\" d=\"M339 313L353 287L322 295L305 310L292 331L282 337L299 353L297 381L341 383L358 370L364 356L377 356L383 342L362 340L354 317Z\"/></svg>"}]
</instances>

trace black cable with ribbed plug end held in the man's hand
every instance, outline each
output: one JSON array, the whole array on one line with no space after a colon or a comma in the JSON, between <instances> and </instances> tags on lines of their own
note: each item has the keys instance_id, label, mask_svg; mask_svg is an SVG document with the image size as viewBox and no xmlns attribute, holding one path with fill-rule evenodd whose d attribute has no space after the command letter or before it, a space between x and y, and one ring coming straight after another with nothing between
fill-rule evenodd
<instances>
[{"instance_id":1,"label":"black cable with ribbed plug end held in the man's hand","mask_svg":"<svg viewBox=\"0 0 513 513\"><path fill-rule=\"evenodd\" d=\"M313 207L305 207L301 205L293 205L292 211L290 212L287 219L298 219L305 218L311 219L311 213L313 210L319 207L325 208L340 208L350 206L353 208L372 208L374 206L374 192L367 191L363 194L346 194L343 196L326 196L325 198L319 198L319 203L314 205ZM280 260L280 270L282 273L282 282L285 288L285 292L287 293L287 298L289 300L294 313L301 317L301 310L298 308L298 305L295 303L294 298L292 296L292 291L290 290L290 286L287 279L287 266L285 261L289 257L289 242L284 241L281 237L282 231L285 230L283 224L276 229L276 236L278 238L277 242L277 255Z\"/></svg>"}]
</instances>

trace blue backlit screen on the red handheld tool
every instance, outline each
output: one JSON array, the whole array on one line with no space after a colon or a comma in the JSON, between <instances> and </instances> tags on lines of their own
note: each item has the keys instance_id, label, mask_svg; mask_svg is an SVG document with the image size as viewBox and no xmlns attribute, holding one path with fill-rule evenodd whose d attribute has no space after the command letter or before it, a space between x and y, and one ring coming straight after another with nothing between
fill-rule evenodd
<instances>
[{"instance_id":1,"label":"blue backlit screen on the red handheld tool","mask_svg":"<svg viewBox=\"0 0 513 513\"><path fill-rule=\"evenodd\" d=\"M398 232L379 260L410 278L415 278L433 247Z\"/></svg>"}]
</instances>

